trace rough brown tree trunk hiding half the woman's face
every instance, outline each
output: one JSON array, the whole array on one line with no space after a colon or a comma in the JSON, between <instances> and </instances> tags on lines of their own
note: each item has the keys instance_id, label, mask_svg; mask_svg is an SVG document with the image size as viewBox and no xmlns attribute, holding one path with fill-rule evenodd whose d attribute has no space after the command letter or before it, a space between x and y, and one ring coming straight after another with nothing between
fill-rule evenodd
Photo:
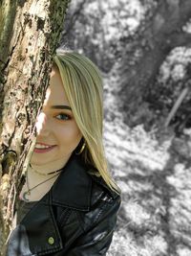
<instances>
[{"instance_id":1,"label":"rough brown tree trunk hiding half the woman's face","mask_svg":"<svg viewBox=\"0 0 191 256\"><path fill-rule=\"evenodd\" d=\"M6 252L69 2L0 1L0 255Z\"/></svg>"}]
</instances>

